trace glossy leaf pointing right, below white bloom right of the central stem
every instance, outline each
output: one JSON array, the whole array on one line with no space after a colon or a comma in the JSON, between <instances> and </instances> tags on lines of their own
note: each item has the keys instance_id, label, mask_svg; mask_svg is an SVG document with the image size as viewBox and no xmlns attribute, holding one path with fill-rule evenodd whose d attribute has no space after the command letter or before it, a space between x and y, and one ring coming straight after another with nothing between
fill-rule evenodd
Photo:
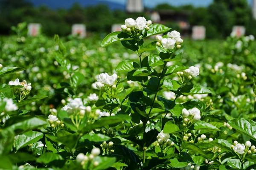
<instances>
[{"instance_id":1,"label":"glossy leaf pointing right, below white bloom right of the central stem","mask_svg":"<svg viewBox=\"0 0 256 170\"><path fill-rule=\"evenodd\" d=\"M208 88L201 85L185 85L180 90L183 94L209 94L212 93Z\"/></svg>"}]
</instances>

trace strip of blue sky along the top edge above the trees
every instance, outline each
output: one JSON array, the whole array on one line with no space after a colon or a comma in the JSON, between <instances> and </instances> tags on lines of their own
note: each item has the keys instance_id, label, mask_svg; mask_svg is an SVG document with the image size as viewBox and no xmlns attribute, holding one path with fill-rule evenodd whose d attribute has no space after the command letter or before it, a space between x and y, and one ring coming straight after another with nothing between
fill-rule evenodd
<instances>
[{"instance_id":1,"label":"strip of blue sky along the top edge above the trees","mask_svg":"<svg viewBox=\"0 0 256 170\"><path fill-rule=\"evenodd\" d=\"M125 4L126 0L109 0L116 3ZM144 5L154 7L160 3L169 3L173 6L192 4L194 6L208 6L213 0L144 0Z\"/></svg>"}]
</instances>

